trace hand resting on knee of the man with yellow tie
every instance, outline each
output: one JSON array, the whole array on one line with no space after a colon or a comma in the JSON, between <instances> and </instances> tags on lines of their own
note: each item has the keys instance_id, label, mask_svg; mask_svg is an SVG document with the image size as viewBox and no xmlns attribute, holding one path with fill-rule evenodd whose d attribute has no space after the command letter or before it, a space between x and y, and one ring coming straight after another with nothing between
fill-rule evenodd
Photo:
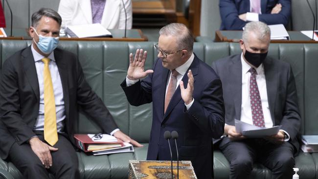
<instances>
[{"instance_id":1,"label":"hand resting on knee of the man with yellow tie","mask_svg":"<svg viewBox=\"0 0 318 179\"><path fill-rule=\"evenodd\" d=\"M57 151L58 149L47 145L38 137L31 138L29 144L34 154L40 158L44 167L47 169L50 168L52 166L52 156L50 151Z\"/></svg>"}]
</instances>

